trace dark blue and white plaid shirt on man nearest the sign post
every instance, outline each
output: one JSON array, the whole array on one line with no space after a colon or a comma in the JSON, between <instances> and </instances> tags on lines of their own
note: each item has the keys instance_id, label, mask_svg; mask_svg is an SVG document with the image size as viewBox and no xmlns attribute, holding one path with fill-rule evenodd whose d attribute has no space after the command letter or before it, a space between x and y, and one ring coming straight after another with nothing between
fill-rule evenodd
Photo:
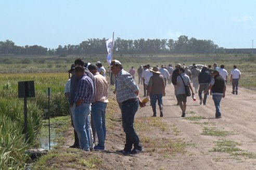
<instances>
[{"instance_id":1,"label":"dark blue and white plaid shirt on man nearest the sign post","mask_svg":"<svg viewBox=\"0 0 256 170\"><path fill-rule=\"evenodd\" d=\"M94 98L93 80L86 75L83 75L78 82L78 87L75 92L75 102L83 100L83 103L92 103Z\"/></svg>"}]
</instances>

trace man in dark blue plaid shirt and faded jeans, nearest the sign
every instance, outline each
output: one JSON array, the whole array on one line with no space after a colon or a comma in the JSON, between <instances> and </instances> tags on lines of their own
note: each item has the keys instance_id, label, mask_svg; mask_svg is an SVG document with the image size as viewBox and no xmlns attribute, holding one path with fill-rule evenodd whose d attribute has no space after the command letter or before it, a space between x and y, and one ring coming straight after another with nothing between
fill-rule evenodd
<instances>
[{"instance_id":1,"label":"man in dark blue plaid shirt and faded jeans, nearest the sign","mask_svg":"<svg viewBox=\"0 0 256 170\"><path fill-rule=\"evenodd\" d=\"M89 112L91 111L91 103L95 96L94 83L93 80L84 73L83 66L76 66L74 68L74 73L79 79L74 98L74 126L75 131L78 133L81 149L89 151Z\"/></svg>"}]
</instances>

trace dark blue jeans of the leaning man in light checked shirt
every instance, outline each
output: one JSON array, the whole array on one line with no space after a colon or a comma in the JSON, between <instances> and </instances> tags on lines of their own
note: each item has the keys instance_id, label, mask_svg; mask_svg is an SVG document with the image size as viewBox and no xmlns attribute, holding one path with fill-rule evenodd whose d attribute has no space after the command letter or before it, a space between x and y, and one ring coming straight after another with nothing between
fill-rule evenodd
<instances>
[{"instance_id":1,"label":"dark blue jeans of the leaning man in light checked shirt","mask_svg":"<svg viewBox=\"0 0 256 170\"><path fill-rule=\"evenodd\" d=\"M125 101L120 105L122 112L122 123L123 131L126 135L126 143L124 146L125 151L131 151L133 145L134 148L141 148L139 144L139 138L133 128L134 116L138 110L139 102L135 101Z\"/></svg>"}]
</instances>

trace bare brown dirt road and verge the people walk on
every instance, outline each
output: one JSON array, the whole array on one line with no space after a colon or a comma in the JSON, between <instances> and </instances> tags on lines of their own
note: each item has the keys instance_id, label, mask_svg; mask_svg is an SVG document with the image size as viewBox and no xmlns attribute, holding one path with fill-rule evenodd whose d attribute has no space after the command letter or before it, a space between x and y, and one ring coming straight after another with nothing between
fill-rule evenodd
<instances>
[{"instance_id":1,"label":"bare brown dirt road and verge the people walk on","mask_svg":"<svg viewBox=\"0 0 256 170\"><path fill-rule=\"evenodd\" d=\"M142 85L139 87L143 89ZM199 104L198 94L196 94L197 101L195 102L188 97L186 117L199 117L198 120L181 118L182 112L180 107L176 106L172 84L167 86L166 94L163 97L164 111L161 121L167 129L161 130L154 125L146 126L146 129L143 129L138 124L137 133L145 149L143 153L124 156L117 152L124 147L125 134L122 130L121 113L117 103L116 105L110 103L107 114L112 112L112 116L111 122L107 122L106 151L87 153L78 149L69 149L68 146L73 144L71 127L66 133L65 144L55 151L77 153L85 160L96 157L101 162L94 167L73 165L72 168L65 162L66 159L63 159L57 160L58 169L256 169L255 91L240 88L239 94L233 95L231 87L228 86L226 97L221 101L222 118L220 119L215 119L212 96L208 96L206 106ZM140 95L142 95L142 90L140 90ZM115 97L111 95L110 98L114 100ZM148 118L151 116L151 107L146 106L139 108L135 119L140 120L140 123L143 123L144 119L150 122L151 119L154 119ZM159 117L159 111L157 116ZM202 135L205 128L225 131L226 136ZM216 141L222 140L238 143L235 147L241 150L239 153L242 155L233 155L237 152L212 151L218 147ZM175 145L164 145L170 141L175 141ZM185 149L175 148L178 143L183 143ZM53 159L49 159L47 162L56 161ZM73 163L77 164L76 160L73 160Z\"/></svg>"}]
</instances>

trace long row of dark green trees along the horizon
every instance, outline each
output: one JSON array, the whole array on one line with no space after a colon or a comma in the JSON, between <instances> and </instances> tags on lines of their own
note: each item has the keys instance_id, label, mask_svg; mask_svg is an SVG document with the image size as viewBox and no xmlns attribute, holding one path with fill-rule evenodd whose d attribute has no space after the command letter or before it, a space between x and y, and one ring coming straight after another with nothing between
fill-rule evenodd
<instances>
[{"instance_id":1,"label":"long row of dark green trees along the horizon","mask_svg":"<svg viewBox=\"0 0 256 170\"><path fill-rule=\"evenodd\" d=\"M42 46L16 46L11 40L0 41L0 54L17 55L83 55L106 54L106 38L91 38L79 45L58 46L48 49ZM210 54L224 52L225 49L214 44L212 40L188 38L182 35L173 39L121 39L114 42L114 53L117 54Z\"/></svg>"}]
</instances>

